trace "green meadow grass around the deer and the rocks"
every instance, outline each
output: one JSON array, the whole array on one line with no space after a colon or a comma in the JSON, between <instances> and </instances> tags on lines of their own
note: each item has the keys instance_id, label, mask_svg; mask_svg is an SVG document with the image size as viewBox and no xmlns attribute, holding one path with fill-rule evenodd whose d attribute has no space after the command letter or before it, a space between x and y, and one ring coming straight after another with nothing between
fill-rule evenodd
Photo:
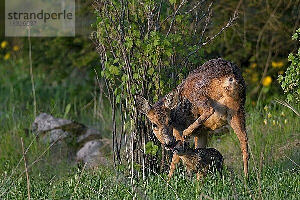
<instances>
[{"instance_id":1,"label":"green meadow grass around the deer and the rocks","mask_svg":"<svg viewBox=\"0 0 300 200\"><path fill-rule=\"evenodd\" d=\"M0 199L28 199L21 137L25 148L32 143L26 154L27 165L49 146L30 132L34 109L28 74L22 63L0 63ZM109 137L109 110L107 106L101 109L98 99L94 107L92 85L76 91L65 86L71 80L66 80L69 82L65 85L46 85L42 71L36 69L34 74L39 112L63 117L70 104L67 118L96 127ZM263 109L265 105L269 106L267 111ZM128 168L117 171L107 166L96 172L82 171L82 165L51 164L47 151L28 171L31 199L70 199L72 194L73 199L298 199L300 118L273 101L262 102L257 108L247 103L247 131L251 156L246 183L239 142L231 131L211 137L208 143L225 158L224 177L210 175L198 183L187 179L182 167L177 168L169 182L166 173L149 172L143 176L142 170L132 178Z\"/></svg>"}]
</instances>

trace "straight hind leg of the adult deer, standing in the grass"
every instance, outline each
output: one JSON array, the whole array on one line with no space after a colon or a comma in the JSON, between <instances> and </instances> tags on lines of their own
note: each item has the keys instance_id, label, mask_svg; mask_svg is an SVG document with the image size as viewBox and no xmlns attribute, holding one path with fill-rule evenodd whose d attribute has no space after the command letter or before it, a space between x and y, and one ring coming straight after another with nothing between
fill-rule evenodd
<instances>
[{"instance_id":1,"label":"straight hind leg of the adult deer, standing in the grass","mask_svg":"<svg viewBox=\"0 0 300 200\"><path fill-rule=\"evenodd\" d=\"M239 142L240 148L243 156L243 165L245 177L248 176L248 162L249 162L249 151L248 151L248 138L245 127L245 114L244 110L238 110L236 113L232 114L232 118L230 120L230 125L236 133Z\"/></svg>"}]
</instances>

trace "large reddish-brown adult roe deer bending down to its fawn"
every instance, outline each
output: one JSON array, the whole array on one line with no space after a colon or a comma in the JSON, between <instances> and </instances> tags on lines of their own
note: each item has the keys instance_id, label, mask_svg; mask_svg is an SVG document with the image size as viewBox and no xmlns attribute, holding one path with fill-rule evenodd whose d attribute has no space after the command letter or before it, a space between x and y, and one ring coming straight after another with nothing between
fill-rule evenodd
<instances>
[{"instance_id":1,"label":"large reddish-brown adult roe deer bending down to its fawn","mask_svg":"<svg viewBox=\"0 0 300 200\"><path fill-rule=\"evenodd\" d=\"M146 114L158 140L167 150L175 141L184 144L194 136L195 148L205 148L207 131L230 124L236 133L248 175L248 143L245 128L245 81L237 66L224 59L207 61L194 69L184 82L173 88L153 106L142 96L136 107ZM169 178L180 158L174 154Z\"/></svg>"}]
</instances>

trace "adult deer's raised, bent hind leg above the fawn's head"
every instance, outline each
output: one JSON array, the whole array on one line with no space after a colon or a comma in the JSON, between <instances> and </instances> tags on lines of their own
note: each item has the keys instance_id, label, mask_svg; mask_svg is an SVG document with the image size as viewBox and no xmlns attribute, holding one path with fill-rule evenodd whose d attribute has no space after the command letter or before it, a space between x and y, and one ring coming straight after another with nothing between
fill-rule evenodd
<instances>
[{"instance_id":1,"label":"adult deer's raised, bent hind leg above the fawn's head","mask_svg":"<svg viewBox=\"0 0 300 200\"><path fill-rule=\"evenodd\" d=\"M192 101L191 101L192 102ZM203 114L195 121L193 122L190 126L188 126L182 134L182 142L185 140L189 140L190 136L192 133L198 129L201 124L206 121L213 113L214 109L211 106L210 102L206 97L202 97L201 99L196 100L195 102L192 102L194 105L196 105L198 108L203 109Z\"/></svg>"}]
</instances>

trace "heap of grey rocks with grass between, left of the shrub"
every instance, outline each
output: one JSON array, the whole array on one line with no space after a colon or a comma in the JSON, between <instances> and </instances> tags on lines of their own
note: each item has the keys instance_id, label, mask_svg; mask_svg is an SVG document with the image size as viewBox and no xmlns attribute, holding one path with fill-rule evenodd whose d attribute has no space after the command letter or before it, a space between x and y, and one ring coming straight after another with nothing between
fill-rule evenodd
<instances>
[{"instance_id":1,"label":"heap of grey rocks with grass between, left of the shrub","mask_svg":"<svg viewBox=\"0 0 300 200\"><path fill-rule=\"evenodd\" d=\"M33 130L43 142L56 142L50 149L53 164L63 160L70 164L87 162L87 167L95 170L108 164L111 142L101 139L100 132L94 128L41 113L33 123Z\"/></svg>"}]
</instances>

